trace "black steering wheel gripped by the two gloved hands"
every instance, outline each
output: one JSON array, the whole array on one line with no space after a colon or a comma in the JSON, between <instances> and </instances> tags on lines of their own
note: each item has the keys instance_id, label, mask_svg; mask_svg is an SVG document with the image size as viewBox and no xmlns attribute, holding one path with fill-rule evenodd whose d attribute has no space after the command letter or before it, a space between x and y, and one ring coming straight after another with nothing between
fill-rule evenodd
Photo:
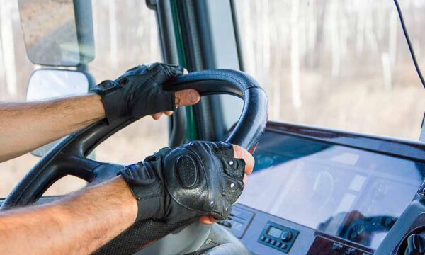
<instances>
[{"instance_id":1,"label":"black steering wheel gripped by the two gloved hands","mask_svg":"<svg viewBox=\"0 0 425 255\"><path fill-rule=\"evenodd\" d=\"M226 142L245 149L254 148L267 122L267 97L259 84L249 75L227 69L212 69L186 74L164 84L164 89L179 91L196 89L201 96L230 94L244 100L242 114ZM120 118L113 123L100 120L74 132L45 154L23 177L4 200L1 210L16 205L35 203L55 181L73 175L88 182L115 175L119 165L87 159L87 155L103 140L133 123L135 118ZM182 225L165 224L154 220L136 222L125 232L98 249L98 254L134 254L146 244L161 239ZM204 238L205 234L198 234ZM202 240L201 240L202 241Z\"/></svg>"}]
</instances>

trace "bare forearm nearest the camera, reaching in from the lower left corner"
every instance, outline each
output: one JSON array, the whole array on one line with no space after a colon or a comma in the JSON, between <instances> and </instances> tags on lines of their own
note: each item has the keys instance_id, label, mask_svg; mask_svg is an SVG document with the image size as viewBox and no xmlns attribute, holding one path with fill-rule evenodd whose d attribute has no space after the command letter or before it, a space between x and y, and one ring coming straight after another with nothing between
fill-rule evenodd
<instances>
[{"instance_id":1,"label":"bare forearm nearest the camera, reaching in from the lower left corner","mask_svg":"<svg viewBox=\"0 0 425 255\"><path fill-rule=\"evenodd\" d=\"M55 203L0 215L0 254L89 254L136 215L135 198L115 177Z\"/></svg>"}]
</instances>

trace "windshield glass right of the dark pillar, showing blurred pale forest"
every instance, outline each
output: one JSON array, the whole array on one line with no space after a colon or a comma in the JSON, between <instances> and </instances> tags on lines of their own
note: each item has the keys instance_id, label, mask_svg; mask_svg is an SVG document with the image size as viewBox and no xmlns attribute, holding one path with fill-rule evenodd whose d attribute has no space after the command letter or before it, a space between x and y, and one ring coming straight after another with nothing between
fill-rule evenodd
<instances>
[{"instance_id":1,"label":"windshield glass right of the dark pillar, showing blurred pale forest","mask_svg":"<svg viewBox=\"0 0 425 255\"><path fill-rule=\"evenodd\" d=\"M236 1L246 72L269 118L418 140L421 86L393 1ZM424 1L400 2L425 69Z\"/></svg>"}]
</instances>

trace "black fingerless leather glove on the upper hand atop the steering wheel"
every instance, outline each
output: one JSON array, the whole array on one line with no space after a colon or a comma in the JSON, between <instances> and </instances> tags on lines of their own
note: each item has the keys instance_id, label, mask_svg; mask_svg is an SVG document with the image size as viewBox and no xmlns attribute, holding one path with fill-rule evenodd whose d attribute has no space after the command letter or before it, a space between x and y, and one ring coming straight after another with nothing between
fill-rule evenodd
<instances>
[{"instance_id":1,"label":"black fingerless leather glove on the upper hand atop the steering wheel","mask_svg":"<svg viewBox=\"0 0 425 255\"><path fill-rule=\"evenodd\" d=\"M164 91L162 84L183 74L183 68L154 63L134 67L115 81L103 81L91 91L102 97L106 119L119 116L142 118L162 111L174 111L174 91Z\"/></svg>"}]
</instances>

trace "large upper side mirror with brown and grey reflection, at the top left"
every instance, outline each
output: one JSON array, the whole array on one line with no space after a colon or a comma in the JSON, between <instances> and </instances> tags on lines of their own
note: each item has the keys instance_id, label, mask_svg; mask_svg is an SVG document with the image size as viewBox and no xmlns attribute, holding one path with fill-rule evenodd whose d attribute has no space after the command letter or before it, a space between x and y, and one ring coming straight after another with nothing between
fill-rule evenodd
<instances>
[{"instance_id":1,"label":"large upper side mirror with brown and grey reflection, at the top left","mask_svg":"<svg viewBox=\"0 0 425 255\"><path fill-rule=\"evenodd\" d=\"M30 62L77 67L94 60L90 0L18 0Z\"/></svg>"}]
</instances>

